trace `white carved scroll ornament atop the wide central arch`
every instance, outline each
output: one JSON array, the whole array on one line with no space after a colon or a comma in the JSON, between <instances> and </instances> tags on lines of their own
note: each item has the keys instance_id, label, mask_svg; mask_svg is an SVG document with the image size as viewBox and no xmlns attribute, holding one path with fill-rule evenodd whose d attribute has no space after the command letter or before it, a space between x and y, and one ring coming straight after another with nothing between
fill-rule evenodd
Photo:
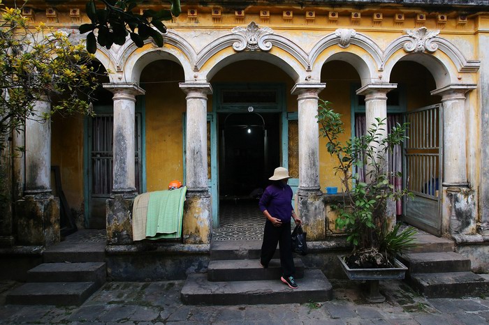
<instances>
[{"instance_id":1,"label":"white carved scroll ornament atop the wide central arch","mask_svg":"<svg viewBox=\"0 0 489 325\"><path fill-rule=\"evenodd\" d=\"M233 43L233 49L235 51L242 50L262 50L262 51L270 51L272 48L272 43L265 43L263 37L266 35L270 35L273 33L273 30L269 27L259 28L255 22L250 22L248 27L235 27L231 29L231 33L237 34L245 38L244 42L235 42Z\"/></svg>"}]
</instances>

